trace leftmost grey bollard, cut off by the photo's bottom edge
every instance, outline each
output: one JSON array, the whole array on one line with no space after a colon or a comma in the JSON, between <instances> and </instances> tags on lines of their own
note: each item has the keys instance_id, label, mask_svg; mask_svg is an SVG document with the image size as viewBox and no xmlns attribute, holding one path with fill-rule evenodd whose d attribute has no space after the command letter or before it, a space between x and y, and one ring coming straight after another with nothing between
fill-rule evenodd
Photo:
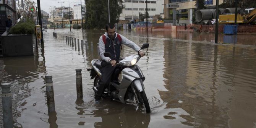
<instances>
[{"instance_id":1,"label":"leftmost grey bollard, cut off by the photo's bottom edge","mask_svg":"<svg viewBox=\"0 0 256 128\"><path fill-rule=\"evenodd\" d=\"M3 127L13 128L13 111L11 104L10 83L2 83Z\"/></svg>"}]
</instances>

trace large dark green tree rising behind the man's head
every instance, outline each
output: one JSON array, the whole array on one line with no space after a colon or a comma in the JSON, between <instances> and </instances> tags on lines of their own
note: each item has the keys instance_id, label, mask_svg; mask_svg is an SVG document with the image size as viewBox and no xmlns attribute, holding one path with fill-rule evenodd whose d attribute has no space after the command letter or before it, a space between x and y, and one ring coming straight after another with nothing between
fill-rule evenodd
<instances>
[{"instance_id":1,"label":"large dark green tree rising behind the man's head","mask_svg":"<svg viewBox=\"0 0 256 128\"><path fill-rule=\"evenodd\" d=\"M100 4L99 4L100 3ZM118 23L122 0L109 0L110 22ZM101 29L109 23L108 0L86 0L86 28Z\"/></svg>"}]
</instances>

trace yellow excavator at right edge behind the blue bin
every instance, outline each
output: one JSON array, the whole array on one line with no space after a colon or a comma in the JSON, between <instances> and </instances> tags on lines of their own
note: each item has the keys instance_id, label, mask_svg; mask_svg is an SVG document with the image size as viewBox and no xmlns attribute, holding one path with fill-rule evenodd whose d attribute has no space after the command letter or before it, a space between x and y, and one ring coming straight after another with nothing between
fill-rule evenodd
<instances>
[{"instance_id":1,"label":"yellow excavator at right edge behind the blue bin","mask_svg":"<svg viewBox=\"0 0 256 128\"><path fill-rule=\"evenodd\" d=\"M219 15L220 24L234 24L235 14L234 13L224 13ZM237 14L238 24L256 24L256 8L254 8L250 13L241 15Z\"/></svg>"}]
</instances>

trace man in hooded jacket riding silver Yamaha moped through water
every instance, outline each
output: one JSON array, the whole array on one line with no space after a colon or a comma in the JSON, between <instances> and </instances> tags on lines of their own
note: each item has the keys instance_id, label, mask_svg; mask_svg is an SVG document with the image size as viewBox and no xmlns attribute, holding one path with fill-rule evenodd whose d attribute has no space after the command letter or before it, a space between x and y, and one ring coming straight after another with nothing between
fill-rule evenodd
<instances>
[{"instance_id":1,"label":"man in hooded jacket riding silver Yamaha moped through water","mask_svg":"<svg viewBox=\"0 0 256 128\"><path fill-rule=\"evenodd\" d=\"M138 55L120 58L122 44L134 49ZM91 79L94 79L95 103L99 103L102 96L111 97L122 103L135 100L146 112L150 112L149 103L144 91L145 77L138 65L135 65L145 55L134 42L115 32L112 23L106 24L106 32L99 38L99 59L92 60ZM118 76L122 72L122 81Z\"/></svg>"}]
</instances>

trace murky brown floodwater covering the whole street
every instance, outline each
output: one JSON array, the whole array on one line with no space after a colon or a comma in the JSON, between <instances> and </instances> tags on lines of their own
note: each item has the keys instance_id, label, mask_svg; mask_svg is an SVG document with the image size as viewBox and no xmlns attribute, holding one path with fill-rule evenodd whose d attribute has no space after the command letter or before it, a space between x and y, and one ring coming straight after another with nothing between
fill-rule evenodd
<instances>
[{"instance_id":1,"label":"murky brown floodwater covering the whole street","mask_svg":"<svg viewBox=\"0 0 256 128\"><path fill-rule=\"evenodd\" d=\"M38 55L0 59L0 79L11 83L13 119L19 128L256 128L255 35L227 36L170 31L119 31L141 46L151 113L135 105L103 99L94 104L93 79L86 70L98 58L104 30L55 29L44 32ZM84 39L83 49L65 36ZM228 38L228 39L224 39ZM234 44L232 43L234 39ZM123 46L122 56L136 54ZM82 69L83 99L76 99L75 69ZM55 113L47 112L45 75L53 76ZM0 89L2 93L2 89ZM0 99L0 127L3 127Z\"/></svg>"}]
</instances>

